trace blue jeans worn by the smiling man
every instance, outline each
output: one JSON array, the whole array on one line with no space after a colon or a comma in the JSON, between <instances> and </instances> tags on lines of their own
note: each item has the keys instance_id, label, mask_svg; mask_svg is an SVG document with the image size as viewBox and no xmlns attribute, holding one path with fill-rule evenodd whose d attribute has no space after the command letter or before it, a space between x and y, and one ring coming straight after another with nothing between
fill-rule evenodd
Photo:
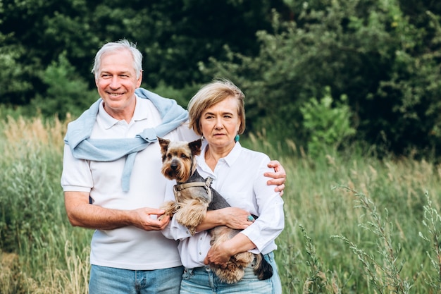
<instances>
[{"instance_id":1,"label":"blue jeans worn by the smiling man","mask_svg":"<svg viewBox=\"0 0 441 294\"><path fill-rule=\"evenodd\" d=\"M178 294L184 267L132 271L93 265L89 294Z\"/></svg>"}]
</instances>

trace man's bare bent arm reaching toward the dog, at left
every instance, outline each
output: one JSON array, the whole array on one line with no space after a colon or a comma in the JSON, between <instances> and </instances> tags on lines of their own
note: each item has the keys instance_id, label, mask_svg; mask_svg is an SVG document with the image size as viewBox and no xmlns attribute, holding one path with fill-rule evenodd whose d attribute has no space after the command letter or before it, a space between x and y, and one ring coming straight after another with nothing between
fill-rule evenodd
<instances>
[{"instance_id":1,"label":"man's bare bent arm reaching toward the dog, at left","mask_svg":"<svg viewBox=\"0 0 441 294\"><path fill-rule=\"evenodd\" d=\"M89 204L87 192L64 192L64 204L72 226L111 230L123 226L136 226L145 231L161 231L170 221L168 216L157 220L163 209L140 208L134 210L107 209Z\"/></svg>"}]
</instances>

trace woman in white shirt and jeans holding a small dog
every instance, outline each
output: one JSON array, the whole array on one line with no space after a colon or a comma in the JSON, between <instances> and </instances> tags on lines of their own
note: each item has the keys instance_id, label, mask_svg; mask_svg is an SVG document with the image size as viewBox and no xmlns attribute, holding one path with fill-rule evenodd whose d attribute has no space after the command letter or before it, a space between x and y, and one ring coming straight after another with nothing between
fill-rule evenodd
<instances>
[{"instance_id":1,"label":"woman in white shirt and jeans holding a small dog","mask_svg":"<svg viewBox=\"0 0 441 294\"><path fill-rule=\"evenodd\" d=\"M269 157L240 145L239 135L245 129L244 94L229 80L216 80L201 87L188 111L190 128L206 141L197 157L197 170L204 178L213 178L211 185L232 207L207 212L194 235L171 221L166 235L180 240L185 267L180 293L282 293L273 250L284 228L283 201L263 176L269 171ZM250 214L259 218L249 221ZM206 230L219 225L243 231L214 248ZM273 267L272 278L259 280L250 265L242 280L229 284L206 267L209 263L225 266L232 255L246 251L264 255Z\"/></svg>"}]
</instances>

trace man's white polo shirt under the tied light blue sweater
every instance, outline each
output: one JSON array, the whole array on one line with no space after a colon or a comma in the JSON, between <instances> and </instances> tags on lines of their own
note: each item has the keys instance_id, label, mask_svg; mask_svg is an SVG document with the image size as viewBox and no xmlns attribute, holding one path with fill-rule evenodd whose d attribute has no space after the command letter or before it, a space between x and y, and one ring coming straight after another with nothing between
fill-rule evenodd
<instances>
[{"instance_id":1,"label":"man's white polo shirt under the tied light blue sweater","mask_svg":"<svg viewBox=\"0 0 441 294\"><path fill-rule=\"evenodd\" d=\"M145 128L161 123L161 116L149 99L137 97L132 121L118 121L104 111L102 102L91 138L130 138ZM169 140L196 140L188 125L164 136ZM159 208L164 202L168 180L161 174L161 152L156 142L138 152L130 176L130 191L123 192L121 176L125 158L111 162L75 159L64 147L61 186L64 191L90 192L93 205L111 209ZM118 269L165 269L181 265L178 243L160 231L143 231L134 226L97 230L91 243L90 262Z\"/></svg>"}]
</instances>

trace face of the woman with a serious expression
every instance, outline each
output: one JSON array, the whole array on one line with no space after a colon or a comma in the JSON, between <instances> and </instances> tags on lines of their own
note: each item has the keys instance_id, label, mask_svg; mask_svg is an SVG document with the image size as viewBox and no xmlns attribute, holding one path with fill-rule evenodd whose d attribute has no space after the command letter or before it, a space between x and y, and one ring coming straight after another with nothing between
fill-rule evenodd
<instances>
[{"instance_id":1,"label":"face of the woman with a serious expression","mask_svg":"<svg viewBox=\"0 0 441 294\"><path fill-rule=\"evenodd\" d=\"M228 147L235 144L240 127L237 101L230 97L202 112L202 135L211 147Z\"/></svg>"}]
</instances>

